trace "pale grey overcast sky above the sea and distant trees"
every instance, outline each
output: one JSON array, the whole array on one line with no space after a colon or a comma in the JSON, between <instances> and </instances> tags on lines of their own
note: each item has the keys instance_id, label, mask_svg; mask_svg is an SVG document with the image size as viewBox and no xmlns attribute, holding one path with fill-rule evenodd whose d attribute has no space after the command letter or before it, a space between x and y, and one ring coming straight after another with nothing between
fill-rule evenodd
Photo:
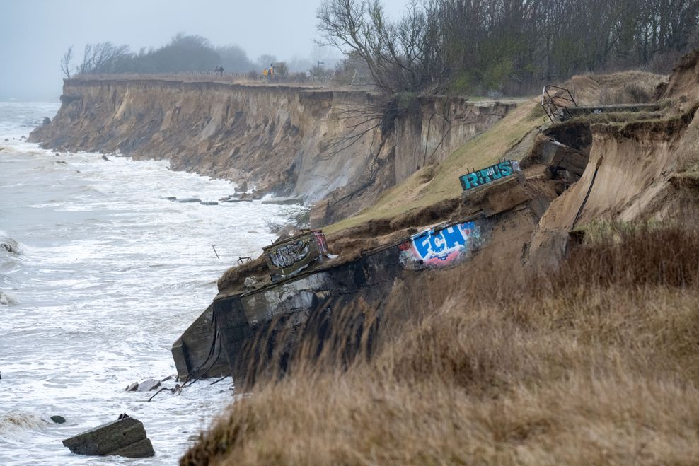
<instances>
[{"instance_id":1,"label":"pale grey overcast sky above the sea and distant trees","mask_svg":"<svg viewBox=\"0 0 699 466\"><path fill-rule=\"evenodd\" d=\"M383 0L394 17L408 0ZM311 58L320 0L0 0L0 100L57 99L70 45L161 47L178 32L239 45L251 60ZM329 52L330 53L330 52ZM337 52L332 52L337 54Z\"/></svg>"}]
</instances>

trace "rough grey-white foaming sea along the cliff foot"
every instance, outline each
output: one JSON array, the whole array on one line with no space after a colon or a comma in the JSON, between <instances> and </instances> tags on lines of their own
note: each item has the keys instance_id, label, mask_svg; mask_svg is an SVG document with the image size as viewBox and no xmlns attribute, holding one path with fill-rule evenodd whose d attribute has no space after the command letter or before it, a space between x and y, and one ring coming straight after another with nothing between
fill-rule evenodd
<instances>
[{"instance_id":1,"label":"rough grey-white foaming sea along the cliff foot","mask_svg":"<svg viewBox=\"0 0 699 466\"><path fill-rule=\"evenodd\" d=\"M175 375L171 346L284 206L216 201L236 187L167 161L26 141L59 103L0 103L0 465L174 465L233 400L233 381L127 392ZM156 155L156 154L154 154ZM175 380L161 383L173 388ZM64 438L126 413L153 458L74 455ZM66 419L64 424L52 416Z\"/></svg>"}]
</instances>

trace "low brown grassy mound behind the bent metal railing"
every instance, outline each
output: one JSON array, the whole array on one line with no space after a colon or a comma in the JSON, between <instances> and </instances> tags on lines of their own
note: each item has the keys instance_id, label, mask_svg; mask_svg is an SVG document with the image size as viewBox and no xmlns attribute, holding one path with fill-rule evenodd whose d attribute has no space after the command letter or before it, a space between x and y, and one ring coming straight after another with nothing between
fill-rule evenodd
<instances>
[{"instance_id":1,"label":"low brown grassy mound behind the bent metal railing","mask_svg":"<svg viewBox=\"0 0 699 466\"><path fill-rule=\"evenodd\" d=\"M578 105L647 103L667 80L662 74L629 70L613 74L581 74L565 84Z\"/></svg>"}]
</instances>

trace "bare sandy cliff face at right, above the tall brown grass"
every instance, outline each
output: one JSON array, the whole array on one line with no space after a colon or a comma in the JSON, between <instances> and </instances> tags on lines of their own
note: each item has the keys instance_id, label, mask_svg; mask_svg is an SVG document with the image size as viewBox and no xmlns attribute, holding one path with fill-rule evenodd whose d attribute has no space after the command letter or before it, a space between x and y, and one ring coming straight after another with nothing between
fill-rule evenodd
<instances>
[{"instance_id":1,"label":"bare sandy cliff face at right, above the tall brown grass","mask_svg":"<svg viewBox=\"0 0 699 466\"><path fill-rule=\"evenodd\" d=\"M594 222L681 221L699 205L697 103L662 119L591 124L582 177L555 199L532 236L529 261L558 267L569 232Z\"/></svg>"}]
</instances>

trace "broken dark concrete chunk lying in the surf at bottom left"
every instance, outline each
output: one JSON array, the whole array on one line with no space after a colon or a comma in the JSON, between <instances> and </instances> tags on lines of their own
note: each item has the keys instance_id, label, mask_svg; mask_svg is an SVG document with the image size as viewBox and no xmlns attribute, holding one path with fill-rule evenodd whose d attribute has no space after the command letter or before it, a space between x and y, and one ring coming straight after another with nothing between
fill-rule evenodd
<instances>
[{"instance_id":1,"label":"broken dark concrete chunk lying in the surf at bottom left","mask_svg":"<svg viewBox=\"0 0 699 466\"><path fill-rule=\"evenodd\" d=\"M119 455L127 458L155 455L143 423L125 414L116 421L66 438L63 445L77 455Z\"/></svg>"}]
</instances>

